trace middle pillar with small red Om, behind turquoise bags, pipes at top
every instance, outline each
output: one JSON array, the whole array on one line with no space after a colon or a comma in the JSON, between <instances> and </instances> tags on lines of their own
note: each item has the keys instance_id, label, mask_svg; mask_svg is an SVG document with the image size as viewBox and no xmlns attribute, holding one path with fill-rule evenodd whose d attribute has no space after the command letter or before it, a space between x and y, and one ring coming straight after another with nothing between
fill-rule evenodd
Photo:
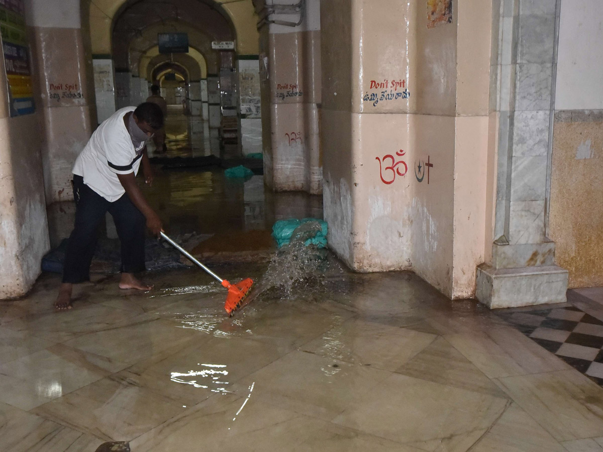
<instances>
[{"instance_id":1,"label":"middle pillar with small red Om, behind turquoise bags, pipes at top","mask_svg":"<svg viewBox=\"0 0 603 452\"><path fill-rule=\"evenodd\" d=\"M260 31L265 182L276 191L322 193L320 2L306 1L304 11L280 11L267 19L301 23L267 22Z\"/></svg>"}]
</instances>

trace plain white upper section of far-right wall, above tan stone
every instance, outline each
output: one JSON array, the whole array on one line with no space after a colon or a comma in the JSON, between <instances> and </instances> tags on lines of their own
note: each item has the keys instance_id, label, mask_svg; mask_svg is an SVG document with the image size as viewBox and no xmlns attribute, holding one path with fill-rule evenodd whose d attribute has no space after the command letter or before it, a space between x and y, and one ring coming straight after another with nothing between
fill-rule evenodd
<instances>
[{"instance_id":1,"label":"plain white upper section of far-right wall, above tan stone","mask_svg":"<svg viewBox=\"0 0 603 452\"><path fill-rule=\"evenodd\" d=\"M555 110L603 108L603 2L561 0Z\"/></svg>"}]
</instances>

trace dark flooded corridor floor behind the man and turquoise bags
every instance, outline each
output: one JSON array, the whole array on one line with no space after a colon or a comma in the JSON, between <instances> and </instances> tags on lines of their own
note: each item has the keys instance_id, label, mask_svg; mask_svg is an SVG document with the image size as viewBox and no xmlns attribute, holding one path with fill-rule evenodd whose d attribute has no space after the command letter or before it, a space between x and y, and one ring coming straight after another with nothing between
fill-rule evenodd
<instances>
[{"instance_id":1,"label":"dark flooded corridor floor behind the man and turquoise bags","mask_svg":"<svg viewBox=\"0 0 603 452\"><path fill-rule=\"evenodd\" d=\"M171 110L166 134L168 151L159 154L162 157L200 157L220 152L217 137L200 118ZM155 151L150 152L152 157ZM153 165L153 171L152 187L145 186L142 172L138 183L162 218L165 230L176 236L215 234L215 243L210 244L214 249L238 248L251 242L271 248L270 231L277 220L323 218L322 196L273 193L264 187L261 175L227 178L221 168L164 169L163 165ZM55 203L48 208L53 247L69 236L74 215L73 202Z\"/></svg>"}]
</instances>

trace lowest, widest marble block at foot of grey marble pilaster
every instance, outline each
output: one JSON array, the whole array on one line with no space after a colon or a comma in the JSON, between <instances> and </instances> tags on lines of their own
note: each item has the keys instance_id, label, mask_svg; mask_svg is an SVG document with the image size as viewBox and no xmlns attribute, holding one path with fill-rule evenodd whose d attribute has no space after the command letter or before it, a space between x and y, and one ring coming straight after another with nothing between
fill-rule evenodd
<instances>
[{"instance_id":1,"label":"lowest, widest marble block at foot of grey marble pilaster","mask_svg":"<svg viewBox=\"0 0 603 452\"><path fill-rule=\"evenodd\" d=\"M478 266L476 298L490 309L565 303L568 272L557 265L496 269Z\"/></svg>"}]
</instances>

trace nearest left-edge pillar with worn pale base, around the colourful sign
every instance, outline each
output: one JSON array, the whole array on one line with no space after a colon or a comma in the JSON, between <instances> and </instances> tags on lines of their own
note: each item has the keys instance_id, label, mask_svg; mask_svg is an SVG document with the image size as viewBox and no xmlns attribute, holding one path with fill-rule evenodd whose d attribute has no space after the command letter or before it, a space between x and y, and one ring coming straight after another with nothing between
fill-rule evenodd
<instances>
[{"instance_id":1,"label":"nearest left-edge pillar with worn pale base, around the colourful sign","mask_svg":"<svg viewBox=\"0 0 603 452\"><path fill-rule=\"evenodd\" d=\"M35 52L31 2L26 2L28 35ZM4 58L0 60L0 99L7 99ZM7 101L0 102L0 298L20 297L40 274L40 260L49 249L46 218L45 107L40 96L36 54L31 55L36 113L9 118Z\"/></svg>"}]
</instances>

